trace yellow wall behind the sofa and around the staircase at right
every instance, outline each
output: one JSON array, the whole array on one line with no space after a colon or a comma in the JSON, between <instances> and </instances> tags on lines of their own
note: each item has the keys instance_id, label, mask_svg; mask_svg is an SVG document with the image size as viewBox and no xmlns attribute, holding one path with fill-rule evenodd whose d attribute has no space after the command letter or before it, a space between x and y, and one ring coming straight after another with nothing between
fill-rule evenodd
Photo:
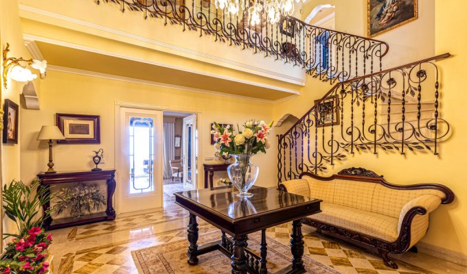
<instances>
[{"instance_id":1,"label":"yellow wall behind the sofa and around the staircase at right","mask_svg":"<svg viewBox=\"0 0 467 274\"><path fill-rule=\"evenodd\" d=\"M365 1L311 1L312 7L322 3L336 5L337 30L348 29L350 33L365 34L365 24L355 14L363 16L361 9L354 13L355 6ZM350 3L352 2L352 3ZM415 183L439 183L453 190L457 199L447 206L440 206L431 214L430 229L422 239L429 245L443 247L452 251L467 254L467 184L464 179L464 169L467 165L466 145L467 118L464 114L464 105L467 101L464 86L465 64L467 63L467 24L464 11L467 10L467 1L418 1L420 4L420 19L413 23L395 29L376 39L389 43L389 53L383 60L398 65L411 62L416 59L430 57L434 54L450 52L453 58L437 62L441 73L441 110L440 115L451 125L452 136L440 145L440 155L430 153L385 153L380 151L378 155L373 153L355 153L344 162L338 162L329 166L328 173L350 167L362 166L385 175L389 182L396 184ZM455 7L455 8L453 8ZM434 10L435 8L435 10ZM308 7L310 11L312 8ZM308 13L309 13L308 11ZM345 12L346 11L346 12ZM436 12L435 12L436 11ZM302 16L306 17L306 8ZM352 14L349 16L349 14ZM428 22L420 25L420 22ZM348 28L342 25L348 24ZM417 27L418 26L418 27ZM456 27L457 26L457 27ZM352 28L352 29L351 29ZM433 28L435 34L433 34ZM415 42L413 36L420 40ZM431 44L431 42L434 44ZM400 51L404 49L404 51ZM396 63L398 62L398 63ZM329 90L329 84L320 84L308 79L306 86L302 88L301 95L295 99L275 104L274 117L280 118L286 113L301 116L312 106L312 100L321 97L324 90Z\"/></svg>"}]
</instances>

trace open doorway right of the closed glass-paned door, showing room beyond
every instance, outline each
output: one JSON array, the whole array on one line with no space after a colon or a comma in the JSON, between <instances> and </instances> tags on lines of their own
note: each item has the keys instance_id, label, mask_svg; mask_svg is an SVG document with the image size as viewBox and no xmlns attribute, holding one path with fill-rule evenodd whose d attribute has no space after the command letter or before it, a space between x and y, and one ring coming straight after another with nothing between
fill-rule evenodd
<instances>
[{"instance_id":1,"label":"open doorway right of the closed glass-paned door, showing room beyond","mask_svg":"<svg viewBox=\"0 0 467 274\"><path fill-rule=\"evenodd\" d=\"M174 201L174 192L196 188L196 114L163 112L163 200Z\"/></svg>"}]
</instances>

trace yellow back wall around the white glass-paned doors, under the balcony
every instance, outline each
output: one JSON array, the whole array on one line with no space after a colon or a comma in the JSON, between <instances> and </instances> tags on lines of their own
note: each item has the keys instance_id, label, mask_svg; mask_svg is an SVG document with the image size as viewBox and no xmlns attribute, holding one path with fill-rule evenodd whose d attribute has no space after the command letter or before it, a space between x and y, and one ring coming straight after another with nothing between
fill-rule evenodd
<instances>
[{"instance_id":1,"label":"yellow back wall around the white glass-paned doors, under the balcony","mask_svg":"<svg viewBox=\"0 0 467 274\"><path fill-rule=\"evenodd\" d=\"M115 168L115 101L162 105L185 111L201 112L198 119L199 164L214 155L209 142L209 127L213 121L239 123L247 119L272 119L272 104L260 101L226 98L196 92L172 90L98 77L49 71L42 81L41 110L22 110L21 118L21 178L32 179L44 171L47 164L47 146L36 141L42 125L54 125L57 112L98 114L101 116L100 145L56 145L55 168L58 171L91 169L92 151L105 151L104 169ZM273 141L275 139L273 138ZM253 162L260 165L258 184L274 186L275 152L257 155ZM203 169L199 179L203 182Z\"/></svg>"}]
</instances>

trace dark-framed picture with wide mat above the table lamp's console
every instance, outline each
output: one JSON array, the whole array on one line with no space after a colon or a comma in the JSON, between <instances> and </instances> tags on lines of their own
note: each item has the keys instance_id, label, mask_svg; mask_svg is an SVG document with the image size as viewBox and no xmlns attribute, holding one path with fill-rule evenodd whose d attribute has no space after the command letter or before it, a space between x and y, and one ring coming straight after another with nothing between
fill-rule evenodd
<instances>
[{"instance_id":1,"label":"dark-framed picture with wide mat above the table lamp's console","mask_svg":"<svg viewBox=\"0 0 467 274\"><path fill-rule=\"evenodd\" d=\"M100 144L100 116L57 113L57 127L65 136L60 144Z\"/></svg>"}]
</instances>

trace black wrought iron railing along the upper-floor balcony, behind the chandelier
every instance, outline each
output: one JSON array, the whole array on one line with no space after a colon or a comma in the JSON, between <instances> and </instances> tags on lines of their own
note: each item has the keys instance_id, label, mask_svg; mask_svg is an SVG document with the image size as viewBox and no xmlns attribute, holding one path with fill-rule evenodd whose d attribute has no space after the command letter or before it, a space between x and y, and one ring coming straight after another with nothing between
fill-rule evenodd
<instances>
[{"instance_id":1,"label":"black wrought iron railing along the upper-floor balcony, behind the chandelier","mask_svg":"<svg viewBox=\"0 0 467 274\"><path fill-rule=\"evenodd\" d=\"M179 25L183 32L198 31L242 49L261 51L265 56L302 66L323 81L345 81L381 70L387 43L331 29L308 25L297 18L282 17L250 25L247 12L239 16L216 9L214 0L93 0L120 5L122 12L139 11L144 18L161 18L165 25Z\"/></svg>"}]
</instances>

